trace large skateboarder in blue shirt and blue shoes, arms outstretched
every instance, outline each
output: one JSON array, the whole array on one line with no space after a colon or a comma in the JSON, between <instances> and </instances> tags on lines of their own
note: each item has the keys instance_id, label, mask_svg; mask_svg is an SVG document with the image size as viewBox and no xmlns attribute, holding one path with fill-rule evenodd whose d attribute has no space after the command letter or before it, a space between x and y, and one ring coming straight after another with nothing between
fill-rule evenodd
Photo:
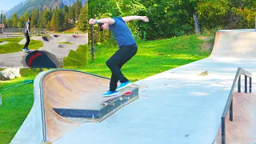
<instances>
[{"instance_id":1,"label":"large skateboarder in blue shirt and blue shoes, arms outstretched","mask_svg":"<svg viewBox=\"0 0 256 144\"><path fill-rule=\"evenodd\" d=\"M110 90L108 90L106 94L103 94L103 97L118 95L118 90L131 85L130 81L122 74L121 68L137 53L138 50L134 37L126 25L126 22L132 20L149 22L149 19L146 16L101 18L98 20L90 18L89 23L91 25L98 24L100 31L110 30L114 34L114 38L119 47L119 50L106 62L106 66L110 68L112 75L110 80ZM118 80L121 82L120 86L118 86Z\"/></svg>"}]
</instances>

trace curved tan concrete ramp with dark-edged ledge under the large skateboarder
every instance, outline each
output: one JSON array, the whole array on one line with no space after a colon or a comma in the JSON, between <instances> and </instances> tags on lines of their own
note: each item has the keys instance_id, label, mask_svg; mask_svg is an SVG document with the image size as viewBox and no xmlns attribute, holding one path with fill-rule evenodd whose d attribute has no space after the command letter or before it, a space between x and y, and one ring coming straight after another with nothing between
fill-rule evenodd
<instances>
[{"instance_id":1,"label":"curved tan concrete ramp with dark-edged ledge under the large skateboarder","mask_svg":"<svg viewBox=\"0 0 256 144\"><path fill-rule=\"evenodd\" d=\"M102 101L108 98L102 98L102 94L108 90L109 82L108 78L75 70L48 70L38 74L34 81L34 106L11 143L55 142L83 122L101 122L132 102L103 106ZM101 111L101 118L88 117L95 110ZM104 110L109 111L103 113ZM87 117L81 113L87 113Z\"/></svg>"}]
</instances>

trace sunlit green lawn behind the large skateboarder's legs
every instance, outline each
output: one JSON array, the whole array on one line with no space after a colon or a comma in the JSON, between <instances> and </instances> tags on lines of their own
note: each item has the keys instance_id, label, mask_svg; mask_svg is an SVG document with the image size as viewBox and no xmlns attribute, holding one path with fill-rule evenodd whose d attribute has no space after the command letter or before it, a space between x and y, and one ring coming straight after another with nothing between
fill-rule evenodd
<instances>
[{"instance_id":1,"label":"sunlit green lawn behind the large skateboarder's legs","mask_svg":"<svg viewBox=\"0 0 256 144\"><path fill-rule=\"evenodd\" d=\"M170 70L190 62L206 58L209 52L201 50L202 40L196 35L151 42L138 42L138 53L122 67L123 74L131 82ZM78 68L86 72L110 78L106 61L118 48L96 47L95 62Z\"/></svg>"}]
</instances>

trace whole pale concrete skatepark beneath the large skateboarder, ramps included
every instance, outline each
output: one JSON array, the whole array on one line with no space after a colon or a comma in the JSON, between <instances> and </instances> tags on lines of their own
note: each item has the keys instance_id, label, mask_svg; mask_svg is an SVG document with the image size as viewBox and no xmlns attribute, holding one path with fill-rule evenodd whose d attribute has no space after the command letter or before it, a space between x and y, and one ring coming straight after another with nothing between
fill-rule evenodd
<instances>
[{"instance_id":1,"label":"whole pale concrete skatepark beneath the large skateboarder, ramps included","mask_svg":"<svg viewBox=\"0 0 256 144\"><path fill-rule=\"evenodd\" d=\"M133 98L113 106L102 106L108 78L43 71L11 143L256 143L255 39L253 29L219 30L210 57L134 82Z\"/></svg>"}]
</instances>

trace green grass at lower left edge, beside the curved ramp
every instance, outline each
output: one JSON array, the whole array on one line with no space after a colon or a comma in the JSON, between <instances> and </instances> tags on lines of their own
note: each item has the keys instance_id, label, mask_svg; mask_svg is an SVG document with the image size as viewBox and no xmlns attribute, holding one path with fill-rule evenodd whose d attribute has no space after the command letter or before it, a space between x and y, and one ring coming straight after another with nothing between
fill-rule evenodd
<instances>
[{"instance_id":1,"label":"green grass at lower left edge, beside the curved ramp","mask_svg":"<svg viewBox=\"0 0 256 144\"><path fill-rule=\"evenodd\" d=\"M21 70L22 78L9 82L0 82L2 106L0 106L0 143L10 143L33 105L33 84L26 84L9 90L10 86L23 83L25 79L34 79L39 70ZM2 91L3 90L3 91Z\"/></svg>"}]
</instances>

